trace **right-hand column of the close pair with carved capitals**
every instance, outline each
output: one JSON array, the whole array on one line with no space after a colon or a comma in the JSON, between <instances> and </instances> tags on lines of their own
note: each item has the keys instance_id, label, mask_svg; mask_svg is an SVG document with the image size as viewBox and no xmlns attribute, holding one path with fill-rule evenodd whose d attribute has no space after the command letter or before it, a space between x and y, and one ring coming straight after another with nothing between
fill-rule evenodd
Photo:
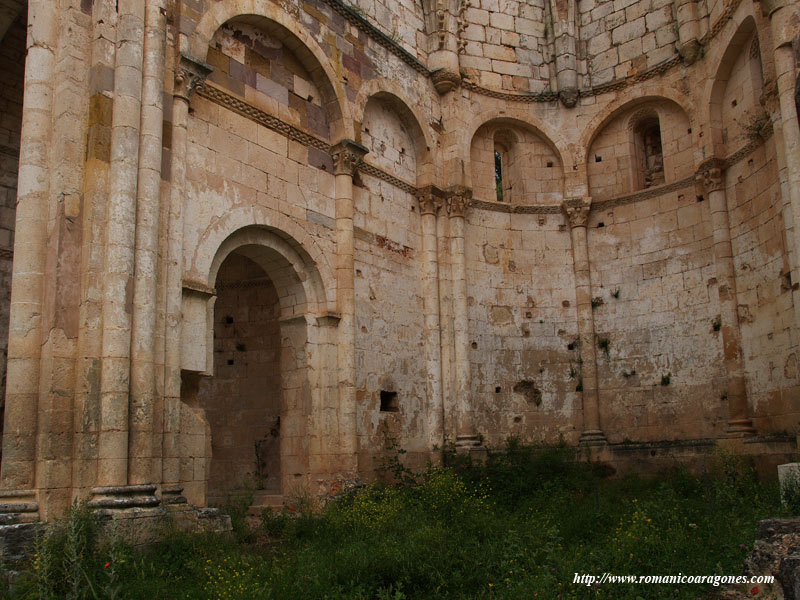
<instances>
[{"instance_id":1,"label":"right-hand column of the close pair with carved capitals","mask_svg":"<svg viewBox=\"0 0 800 600\"><path fill-rule=\"evenodd\" d=\"M464 248L466 216L472 190L454 186L447 194L450 219L450 260L453 282L453 341L456 450L469 452L480 446L472 407L472 381L469 366L469 313L467 307L467 265Z\"/></svg>"}]
</instances>

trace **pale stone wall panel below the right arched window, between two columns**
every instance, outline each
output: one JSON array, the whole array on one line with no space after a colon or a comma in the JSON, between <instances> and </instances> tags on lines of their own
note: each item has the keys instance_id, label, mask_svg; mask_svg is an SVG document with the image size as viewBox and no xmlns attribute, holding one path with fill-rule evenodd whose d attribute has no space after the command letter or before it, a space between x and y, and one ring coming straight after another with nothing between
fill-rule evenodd
<instances>
[{"instance_id":1,"label":"pale stone wall panel below the right arched window, between two columns","mask_svg":"<svg viewBox=\"0 0 800 600\"><path fill-rule=\"evenodd\" d=\"M611 441L724 431L710 219L690 183L589 220L600 414Z\"/></svg>"}]
</instances>

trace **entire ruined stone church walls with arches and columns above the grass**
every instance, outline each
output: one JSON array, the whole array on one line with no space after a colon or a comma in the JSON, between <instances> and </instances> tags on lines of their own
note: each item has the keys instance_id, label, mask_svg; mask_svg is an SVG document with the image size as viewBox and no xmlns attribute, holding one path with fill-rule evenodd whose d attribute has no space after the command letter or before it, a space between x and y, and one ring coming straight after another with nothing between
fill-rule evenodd
<instances>
[{"instance_id":1,"label":"entire ruined stone church walls with arches and columns above the grass","mask_svg":"<svg viewBox=\"0 0 800 600\"><path fill-rule=\"evenodd\" d=\"M796 0L118 4L0 7L4 557L393 444L796 456Z\"/></svg>"}]
</instances>

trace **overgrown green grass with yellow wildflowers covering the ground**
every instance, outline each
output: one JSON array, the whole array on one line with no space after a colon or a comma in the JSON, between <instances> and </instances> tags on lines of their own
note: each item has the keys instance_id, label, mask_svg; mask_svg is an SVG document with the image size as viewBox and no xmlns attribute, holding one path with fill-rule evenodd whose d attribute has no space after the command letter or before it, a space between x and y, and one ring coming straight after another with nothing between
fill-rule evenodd
<instances>
[{"instance_id":1,"label":"overgrown green grass with yellow wildflowers covering the ground","mask_svg":"<svg viewBox=\"0 0 800 600\"><path fill-rule=\"evenodd\" d=\"M776 485L733 459L701 478L611 480L568 456L511 440L485 465L450 455L413 474L397 462L402 484L369 485L321 512L265 513L235 535L168 531L145 551L59 526L60 545L39 543L14 597L706 598L707 586L572 582L606 571L738 575L757 522L786 511ZM56 574L50 596L43 573Z\"/></svg>"}]
</instances>

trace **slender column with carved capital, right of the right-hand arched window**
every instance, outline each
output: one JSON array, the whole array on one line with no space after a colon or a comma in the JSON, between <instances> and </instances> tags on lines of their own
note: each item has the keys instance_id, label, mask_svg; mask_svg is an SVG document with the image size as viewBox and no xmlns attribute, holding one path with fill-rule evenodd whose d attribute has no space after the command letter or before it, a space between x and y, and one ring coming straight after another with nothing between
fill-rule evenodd
<instances>
[{"instance_id":1,"label":"slender column with carved capital, right of the right-hand arched window","mask_svg":"<svg viewBox=\"0 0 800 600\"><path fill-rule=\"evenodd\" d=\"M717 291L722 324L722 360L728 377L730 420L727 435L746 437L754 435L756 431L747 416L747 388L744 381L742 336L737 312L736 274L728 222L728 201L725 197L724 169L725 164L722 160L712 158L700 165L697 178L708 197L714 232L714 265L717 269Z\"/></svg>"}]
</instances>

